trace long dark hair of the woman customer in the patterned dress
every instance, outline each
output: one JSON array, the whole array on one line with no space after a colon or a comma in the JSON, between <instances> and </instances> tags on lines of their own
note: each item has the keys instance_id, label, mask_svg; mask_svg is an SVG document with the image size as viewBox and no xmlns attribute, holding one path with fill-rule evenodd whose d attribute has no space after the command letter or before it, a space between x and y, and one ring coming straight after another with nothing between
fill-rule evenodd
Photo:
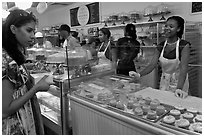
<instances>
[{"instance_id":1,"label":"long dark hair of the woman customer in the patterned dress","mask_svg":"<svg viewBox=\"0 0 204 137\"><path fill-rule=\"evenodd\" d=\"M24 53L22 53L18 48L18 41L15 35L11 32L10 26L14 25L19 28L32 21L37 23L37 19L32 13L16 9L10 11L10 14L2 24L2 47L18 65L23 64L26 59Z\"/></svg>"}]
</instances>

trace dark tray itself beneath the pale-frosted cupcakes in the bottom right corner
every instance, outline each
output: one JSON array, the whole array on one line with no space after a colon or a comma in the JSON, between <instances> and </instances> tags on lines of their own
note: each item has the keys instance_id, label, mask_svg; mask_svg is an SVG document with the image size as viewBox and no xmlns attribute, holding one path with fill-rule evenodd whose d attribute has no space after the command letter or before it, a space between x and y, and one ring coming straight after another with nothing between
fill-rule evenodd
<instances>
[{"instance_id":1,"label":"dark tray itself beneath the pale-frosted cupcakes in the bottom right corner","mask_svg":"<svg viewBox=\"0 0 204 137\"><path fill-rule=\"evenodd\" d=\"M184 113L185 112L187 112L186 110L184 111ZM183 114L184 114L183 113ZM201 114L200 112L198 112L197 114ZM166 116L169 116L170 114L169 114L169 112L166 114ZM182 114L180 115L180 118L182 119L183 117L182 117ZM159 120L159 123L162 125L162 126L165 126L165 127L168 127L168 128L171 128L171 129L174 129L174 130L177 130L177 131L181 131L181 132L185 132L185 133L187 133L187 134L190 134L190 135L196 135L196 134L201 134L201 133L198 133L198 132L196 132L196 131L193 131L193 129L192 129L192 124L193 123L195 123L195 116L194 116L194 118L193 118L193 122L190 122L190 125L187 127L187 128L181 128L181 127L178 127L178 125L176 125L176 124L173 124L173 125L171 125L171 124L167 124L167 123L164 123L163 122L163 119L160 119Z\"/></svg>"}]
</instances>

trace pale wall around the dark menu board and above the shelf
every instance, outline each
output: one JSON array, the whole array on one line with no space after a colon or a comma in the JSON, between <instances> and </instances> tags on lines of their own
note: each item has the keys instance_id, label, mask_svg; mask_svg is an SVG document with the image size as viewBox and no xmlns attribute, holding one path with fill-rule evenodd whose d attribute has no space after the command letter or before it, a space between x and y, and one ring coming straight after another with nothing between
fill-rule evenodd
<instances>
[{"instance_id":1,"label":"pale wall around the dark menu board and above the shelf","mask_svg":"<svg viewBox=\"0 0 204 137\"><path fill-rule=\"evenodd\" d=\"M52 26L57 24L70 24L70 9L75 8L81 5L88 4L90 2L77 2L72 5L63 7L63 8L55 8L53 10L48 10L43 14L36 13L37 18L39 19L39 30L46 26ZM103 19L104 16L111 15L112 13L121 13L121 12L130 12L133 10L143 12L146 7L149 5L157 6L161 4L161 2L101 2L101 14L100 18ZM170 15L180 15L186 21L202 21L202 14L191 14L191 2L165 2L171 10ZM153 18L154 20L159 20L159 18ZM147 21L147 17L143 17L141 21ZM97 24L99 27L102 27L103 24ZM91 25L95 26L95 25ZM90 26L88 26L90 27ZM74 27L75 29L81 29L81 27ZM87 27L82 28L87 29Z\"/></svg>"}]
</instances>

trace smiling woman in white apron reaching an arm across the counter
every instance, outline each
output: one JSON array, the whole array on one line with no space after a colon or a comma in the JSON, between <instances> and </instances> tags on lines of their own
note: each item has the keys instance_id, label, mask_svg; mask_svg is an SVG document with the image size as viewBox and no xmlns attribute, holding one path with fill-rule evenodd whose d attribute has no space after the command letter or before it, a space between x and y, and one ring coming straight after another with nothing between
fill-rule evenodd
<instances>
[{"instance_id":1,"label":"smiling woman in white apron reaching an arm across the counter","mask_svg":"<svg viewBox=\"0 0 204 137\"><path fill-rule=\"evenodd\" d=\"M190 43L181 39L184 22L180 16L172 16L167 19L164 27L166 40L157 46L150 64L140 73L133 74L133 81L150 73L159 61L162 68L160 89L174 92L180 98L187 97Z\"/></svg>"}]
</instances>

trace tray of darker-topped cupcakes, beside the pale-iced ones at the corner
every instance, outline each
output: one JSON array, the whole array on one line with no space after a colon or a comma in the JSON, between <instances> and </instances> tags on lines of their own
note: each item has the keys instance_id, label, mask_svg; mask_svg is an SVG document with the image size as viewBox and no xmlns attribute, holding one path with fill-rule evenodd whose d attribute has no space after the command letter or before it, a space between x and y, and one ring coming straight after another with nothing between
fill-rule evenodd
<instances>
[{"instance_id":1,"label":"tray of darker-topped cupcakes, beside the pale-iced ones at the corner","mask_svg":"<svg viewBox=\"0 0 204 137\"><path fill-rule=\"evenodd\" d=\"M143 98L142 95L134 96L134 94L127 94L125 99L119 97L110 100L108 108L131 118L154 123L172 109L171 106L160 103L158 99Z\"/></svg>"}]
</instances>

